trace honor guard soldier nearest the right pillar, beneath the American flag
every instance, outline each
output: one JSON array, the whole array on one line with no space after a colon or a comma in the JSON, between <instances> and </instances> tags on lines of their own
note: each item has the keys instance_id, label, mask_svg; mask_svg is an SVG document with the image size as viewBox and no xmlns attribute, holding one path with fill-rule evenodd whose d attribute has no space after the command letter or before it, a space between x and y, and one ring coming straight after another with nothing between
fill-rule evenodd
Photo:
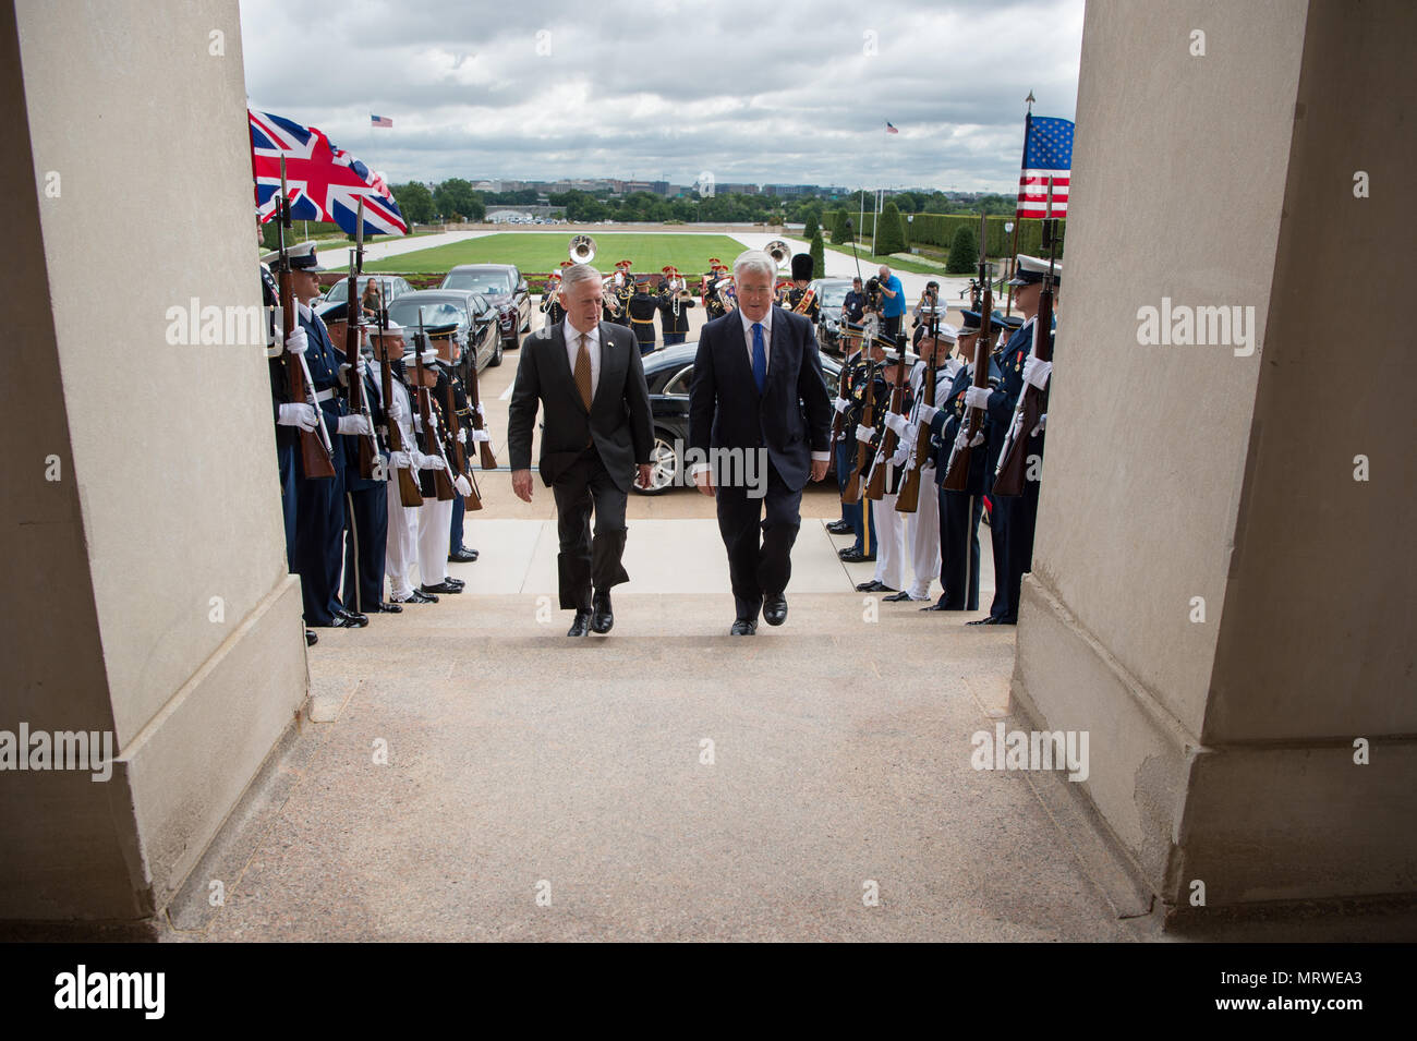
<instances>
[{"instance_id":1,"label":"honor guard soldier nearest the right pillar, beneath the American flag","mask_svg":"<svg viewBox=\"0 0 1417 1041\"><path fill-rule=\"evenodd\" d=\"M988 408L989 419L1000 431L1002 439L1013 421L1013 409L1019 402L1019 395L1026 384L1033 382L1040 388L1047 387L1053 365L1030 361L1033 353L1034 316L1039 310L1039 296L1043 289L1043 279L1049 273L1049 262L1037 256L1019 255L1015 266L1015 276L1009 285L1015 288L1013 303L1023 316L1023 323L1017 331L1009 337L999 358L1002 384L995 391L971 387L966 394L966 405L973 408ZM1063 282L1063 265L1053 266L1053 290L1058 295ZM1054 297L1056 299L1056 297ZM1054 307L1057 305L1054 303ZM1053 337L1053 330L1047 336ZM1043 456L1043 426L1026 432L1024 445L1027 456ZM1030 470L1037 473L1036 466ZM990 482L993 470L989 472ZM989 606L989 616L971 622L969 625L1016 625L1019 620L1019 592L1023 584L1023 572L1033 565L1033 525L1039 511L1039 482L1024 480L1024 490L1020 496L993 494L990 484L989 501L989 535L993 542L993 574L995 596Z\"/></svg>"}]
</instances>

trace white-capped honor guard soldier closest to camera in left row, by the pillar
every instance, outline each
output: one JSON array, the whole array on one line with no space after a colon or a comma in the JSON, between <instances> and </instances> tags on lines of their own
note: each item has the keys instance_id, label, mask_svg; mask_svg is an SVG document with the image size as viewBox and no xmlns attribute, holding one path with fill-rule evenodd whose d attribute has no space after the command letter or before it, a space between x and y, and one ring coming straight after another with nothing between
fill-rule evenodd
<instances>
[{"instance_id":1,"label":"white-capped honor guard soldier closest to camera in left row, by the pillar","mask_svg":"<svg viewBox=\"0 0 1417 1041\"><path fill-rule=\"evenodd\" d=\"M346 442L340 435L360 432L364 418L343 415L341 399L336 392L340 387L339 370L343 355L330 341L324 323L309 307L309 303L320 295L319 272L323 271L315 255L315 244L302 242L292 246L286 251L286 256L290 261L296 326L285 348L305 360L310 374L309 391L315 399L312 411L316 429L323 425L329 438L330 463L334 467L333 477L307 477L296 455L295 571L300 575L305 622L315 627L360 629L368 625L368 616L346 610L339 599L343 569L340 551L344 531ZM279 259L279 252L261 258L266 265ZM309 419L310 415L302 409L290 415L289 425L300 426Z\"/></svg>"}]
</instances>

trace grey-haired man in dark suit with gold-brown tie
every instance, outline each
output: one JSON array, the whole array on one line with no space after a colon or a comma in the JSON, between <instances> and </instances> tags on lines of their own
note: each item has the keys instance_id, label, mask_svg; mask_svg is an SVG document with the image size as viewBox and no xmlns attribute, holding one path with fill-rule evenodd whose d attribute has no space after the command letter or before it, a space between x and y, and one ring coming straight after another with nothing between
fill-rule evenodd
<instances>
[{"instance_id":1,"label":"grey-haired man in dark suit with gold-brown tie","mask_svg":"<svg viewBox=\"0 0 1417 1041\"><path fill-rule=\"evenodd\" d=\"M530 503L531 425L541 404L541 482L555 496L561 609L575 612L567 636L585 636L587 627L608 633L615 625L611 586L629 581L621 567L625 500L631 479L649 486L655 436L635 334L601 322L599 272L567 268L561 306L565 322L521 344L507 443L512 490Z\"/></svg>"}]
</instances>

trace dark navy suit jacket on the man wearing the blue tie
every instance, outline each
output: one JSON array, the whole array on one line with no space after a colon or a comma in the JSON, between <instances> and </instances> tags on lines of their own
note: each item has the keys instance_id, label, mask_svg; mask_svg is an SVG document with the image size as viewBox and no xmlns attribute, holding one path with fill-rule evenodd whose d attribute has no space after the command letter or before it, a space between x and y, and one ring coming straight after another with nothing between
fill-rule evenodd
<instances>
[{"instance_id":1,"label":"dark navy suit jacket on the man wearing the blue tie","mask_svg":"<svg viewBox=\"0 0 1417 1041\"><path fill-rule=\"evenodd\" d=\"M689 443L708 449L765 448L782 482L794 491L806 484L812 453L832 439L832 401L822 382L812 322L778 307L772 313L768 382L762 395L752 380L743 312L734 307L699 334L694 382L689 391Z\"/></svg>"}]
</instances>

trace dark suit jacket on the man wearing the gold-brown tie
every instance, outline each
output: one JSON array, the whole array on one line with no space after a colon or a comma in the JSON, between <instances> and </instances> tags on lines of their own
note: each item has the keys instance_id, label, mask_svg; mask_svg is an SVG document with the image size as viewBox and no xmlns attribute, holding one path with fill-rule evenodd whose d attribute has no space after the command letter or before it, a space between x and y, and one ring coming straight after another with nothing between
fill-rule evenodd
<instances>
[{"instance_id":1,"label":"dark suit jacket on the man wearing the gold-brown tie","mask_svg":"<svg viewBox=\"0 0 1417 1041\"><path fill-rule=\"evenodd\" d=\"M561 326L540 329L521 344L507 423L513 470L531 469L531 423L538 402L544 406L543 483L551 484L585 450L587 442L595 443L621 491L629 491L635 465L649 462L655 428L639 344L631 330L606 322L599 323L599 337L601 380L589 412L575 387Z\"/></svg>"}]
</instances>

